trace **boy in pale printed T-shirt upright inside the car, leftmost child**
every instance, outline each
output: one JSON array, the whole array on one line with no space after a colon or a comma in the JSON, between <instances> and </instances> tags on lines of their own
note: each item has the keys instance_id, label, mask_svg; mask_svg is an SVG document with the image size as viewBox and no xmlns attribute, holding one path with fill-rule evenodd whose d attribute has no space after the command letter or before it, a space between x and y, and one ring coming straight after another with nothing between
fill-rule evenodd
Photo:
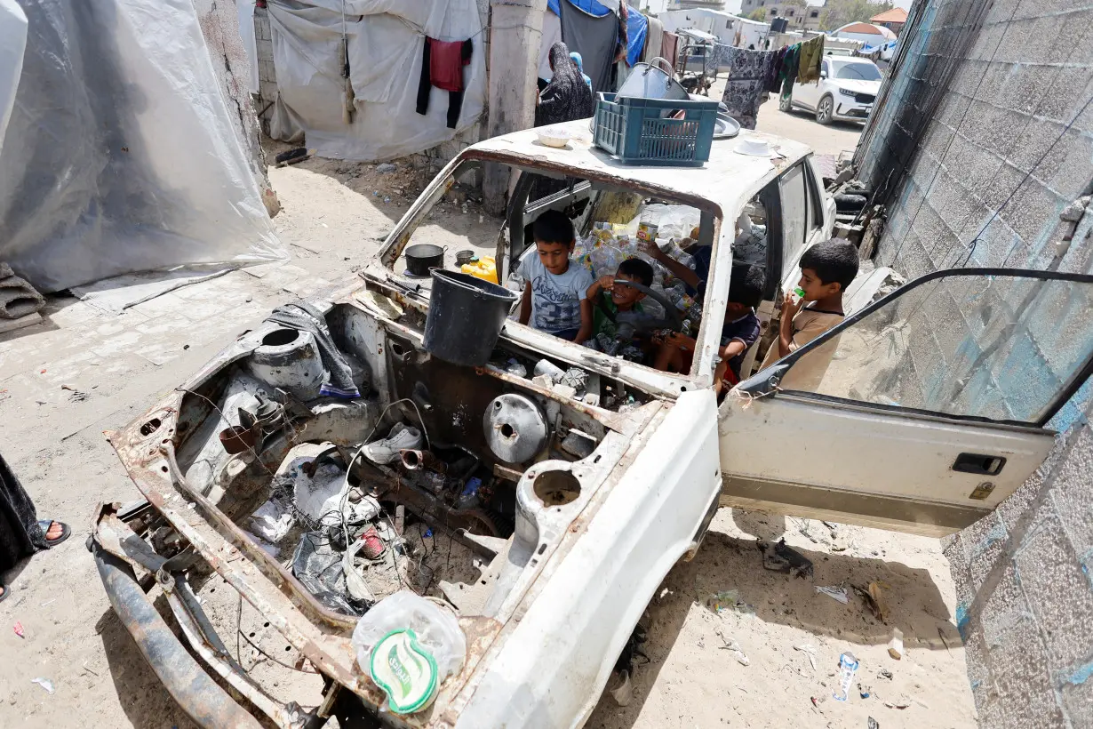
<instances>
[{"instance_id":1,"label":"boy in pale printed T-shirt upright inside the car, leftmost child","mask_svg":"<svg viewBox=\"0 0 1093 729\"><path fill-rule=\"evenodd\" d=\"M530 322L539 331L585 342L592 336L592 304L587 298L592 274L569 260L577 243L573 222L564 213L548 210L531 231L538 255L520 261L520 324Z\"/></svg>"}]
</instances>

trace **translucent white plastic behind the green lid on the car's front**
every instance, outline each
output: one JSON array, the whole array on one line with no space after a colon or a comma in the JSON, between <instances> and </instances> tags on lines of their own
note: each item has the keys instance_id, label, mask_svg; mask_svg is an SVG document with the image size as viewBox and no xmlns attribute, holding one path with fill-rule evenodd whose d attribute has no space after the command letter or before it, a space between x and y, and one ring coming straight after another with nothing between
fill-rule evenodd
<instances>
[{"instance_id":1,"label":"translucent white plastic behind the green lid on the car's front","mask_svg":"<svg viewBox=\"0 0 1093 729\"><path fill-rule=\"evenodd\" d=\"M458 673L467 659L467 638L459 621L448 610L410 590L399 590L384 598L353 628L356 665L367 671L372 649L391 631L410 628L418 644L436 661L436 683Z\"/></svg>"}]
</instances>

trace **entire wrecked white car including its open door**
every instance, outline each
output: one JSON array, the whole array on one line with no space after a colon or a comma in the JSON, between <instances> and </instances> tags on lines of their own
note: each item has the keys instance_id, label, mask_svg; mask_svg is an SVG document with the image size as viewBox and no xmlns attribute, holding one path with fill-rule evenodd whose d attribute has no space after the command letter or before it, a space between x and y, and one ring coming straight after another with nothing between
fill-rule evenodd
<instances>
[{"instance_id":1,"label":"entire wrecked white car including its open door","mask_svg":"<svg viewBox=\"0 0 1093 729\"><path fill-rule=\"evenodd\" d=\"M766 324L802 251L831 235L810 151L741 132L773 154L728 140L702 168L627 167L591 149L587 122L572 132L564 149L530 130L469 148L388 236L385 267L310 302L310 325L279 309L109 435L144 498L104 505L91 546L114 609L199 725L579 727L719 504L943 534L1043 461L1048 422L1090 374L1093 278L965 269L872 302L883 272L863 274L843 325L749 377L763 354L750 352L719 404L734 260L764 269ZM472 242L496 248L503 281L545 209L583 239L603 225L621 238L650 210L694 221L713 250L690 372L512 319L482 366L426 351L428 279L395 269L428 242L436 201L485 164L521 173L500 238ZM762 234L743 239L741 214ZM657 326L682 328L693 318L670 310L669 287L653 287ZM1026 305L1008 309L1003 287ZM1057 342L1037 342L1055 346L1053 371L1016 369L1023 322L1043 316L1059 321ZM814 391L779 388L814 356L831 358ZM218 635L191 589L210 571L322 678L319 706L279 702L244 670L237 636ZM203 665L145 597L153 580Z\"/></svg>"}]
</instances>

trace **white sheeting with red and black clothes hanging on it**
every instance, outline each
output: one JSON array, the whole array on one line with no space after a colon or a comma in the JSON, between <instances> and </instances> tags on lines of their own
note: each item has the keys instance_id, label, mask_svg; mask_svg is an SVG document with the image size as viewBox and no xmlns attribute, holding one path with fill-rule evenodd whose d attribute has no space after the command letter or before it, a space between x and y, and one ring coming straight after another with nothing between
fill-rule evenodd
<instances>
[{"instance_id":1,"label":"white sheeting with red and black clothes hanging on it","mask_svg":"<svg viewBox=\"0 0 1093 729\"><path fill-rule=\"evenodd\" d=\"M474 0L270 0L278 101L270 132L325 157L392 160L436 146L472 126L485 105L485 45ZM349 40L353 120L342 115L339 62ZM416 113L425 37L472 39L456 129L447 127L448 92L432 89L428 113Z\"/></svg>"}]
</instances>

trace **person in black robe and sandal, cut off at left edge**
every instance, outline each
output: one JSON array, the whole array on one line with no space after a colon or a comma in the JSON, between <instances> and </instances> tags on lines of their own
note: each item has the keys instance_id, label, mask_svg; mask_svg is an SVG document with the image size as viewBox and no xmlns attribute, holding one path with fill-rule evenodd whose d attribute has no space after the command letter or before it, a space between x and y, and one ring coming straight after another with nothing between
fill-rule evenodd
<instances>
[{"instance_id":1,"label":"person in black robe and sandal, cut off at left edge","mask_svg":"<svg viewBox=\"0 0 1093 729\"><path fill-rule=\"evenodd\" d=\"M3 573L35 552L57 546L70 533L66 524L38 519L31 496L0 456L0 602L11 593Z\"/></svg>"}]
</instances>

